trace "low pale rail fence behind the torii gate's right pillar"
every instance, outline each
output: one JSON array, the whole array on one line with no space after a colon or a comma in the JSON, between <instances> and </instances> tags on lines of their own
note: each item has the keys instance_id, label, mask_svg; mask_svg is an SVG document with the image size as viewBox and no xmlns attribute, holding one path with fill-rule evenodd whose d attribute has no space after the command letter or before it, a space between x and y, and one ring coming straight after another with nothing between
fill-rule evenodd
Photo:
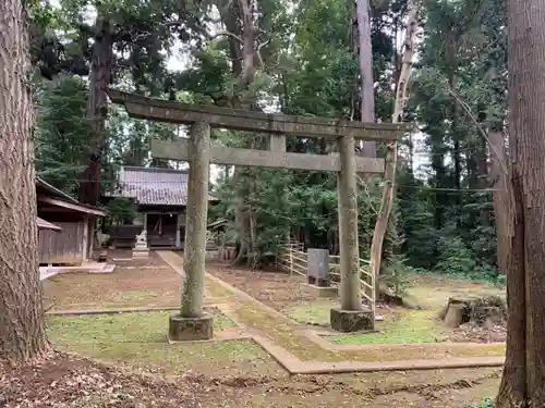
<instances>
[{"instance_id":1,"label":"low pale rail fence behind the torii gate's right pillar","mask_svg":"<svg viewBox=\"0 0 545 408\"><path fill-rule=\"evenodd\" d=\"M308 262L304 245L295 240L283 245L277 258L277 263L279 268L290 274L295 273L306 277ZM339 285L340 257L338 255L329 256L329 275L331 276L331 284ZM364 259L360 259L360 285L363 304L375 313L375 277L370 272L370 262Z\"/></svg>"}]
</instances>

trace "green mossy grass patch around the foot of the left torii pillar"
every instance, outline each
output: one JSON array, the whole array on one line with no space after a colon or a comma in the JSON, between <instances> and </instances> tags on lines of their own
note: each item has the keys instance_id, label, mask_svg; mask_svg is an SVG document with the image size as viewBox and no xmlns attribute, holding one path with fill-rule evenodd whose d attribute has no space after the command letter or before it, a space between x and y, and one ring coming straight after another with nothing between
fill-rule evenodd
<instances>
[{"instance_id":1,"label":"green mossy grass patch around the foot of the left torii pillar","mask_svg":"<svg viewBox=\"0 0 545 408\"><path fill-rule=\"evenodd\" d=\"M215 330L233 325L217 309ZM186 370L211 376L268 374L279 370L276 362L249 339L170 345L167 342L169 312L95 314L48 318L53 345L107 362L154 367L167 373ZM237 371L240 371L238 373Z\"/></svg>"}]
</instances>

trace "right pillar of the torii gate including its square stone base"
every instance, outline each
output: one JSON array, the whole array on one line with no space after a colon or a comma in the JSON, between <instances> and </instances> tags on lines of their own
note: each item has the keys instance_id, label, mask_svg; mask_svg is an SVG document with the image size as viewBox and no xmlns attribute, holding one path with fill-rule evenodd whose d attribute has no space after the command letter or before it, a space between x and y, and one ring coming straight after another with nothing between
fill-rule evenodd
<instances>
[{"instance_id":1,"label":"right pillar of the torii gate including its square stone base","mask_svg":"<svg viewBox=\"0 0 545 408\"><path fill-rule=\"evenodd\" d=\"M339 138L341 170L337 180L339 200L340 309L331 309L331 327L341 332L372 329L374 317L363 310L358 244L358 190L355 182L355 140Z\"/></svg>"}]
</instances>

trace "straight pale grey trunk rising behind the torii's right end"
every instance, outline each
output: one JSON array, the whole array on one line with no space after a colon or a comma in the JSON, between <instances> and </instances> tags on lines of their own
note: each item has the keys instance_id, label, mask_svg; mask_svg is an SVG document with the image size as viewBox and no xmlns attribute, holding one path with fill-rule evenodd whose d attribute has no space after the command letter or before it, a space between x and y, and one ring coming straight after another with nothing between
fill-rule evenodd
<instances>
[{"instance_id":1,"label":"straight pale grey trunk rising behind the torii's right end","mask_svg":"<svg viewBox=\"0 0 545 408\"><path fill-rule=\"evenodd\" d=\"M373 81L373 49L368 0L356 0L358 40L361 76L361 121L375 122L375 89ZM362 141L362 156L376 157L375 141Z\"/></svg>"}]
</instances>

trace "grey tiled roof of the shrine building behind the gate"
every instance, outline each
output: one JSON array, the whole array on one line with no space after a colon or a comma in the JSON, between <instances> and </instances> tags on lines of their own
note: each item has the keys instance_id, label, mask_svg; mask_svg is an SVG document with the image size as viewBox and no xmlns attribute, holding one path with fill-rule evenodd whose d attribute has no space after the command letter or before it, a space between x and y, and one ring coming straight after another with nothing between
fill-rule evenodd
<instances>
[{"instance_id":1,"label":"grey tiled roof of the shrine building behind the gate","mask_svg":"<svg viewBox=\"0 0 545 408\"><path fill-rule=\"evenodd\" d=\"M172 169L124 166L116 196L134 198L140 205L185 206L187 172Z\"/></svg>"}]
</instances>

